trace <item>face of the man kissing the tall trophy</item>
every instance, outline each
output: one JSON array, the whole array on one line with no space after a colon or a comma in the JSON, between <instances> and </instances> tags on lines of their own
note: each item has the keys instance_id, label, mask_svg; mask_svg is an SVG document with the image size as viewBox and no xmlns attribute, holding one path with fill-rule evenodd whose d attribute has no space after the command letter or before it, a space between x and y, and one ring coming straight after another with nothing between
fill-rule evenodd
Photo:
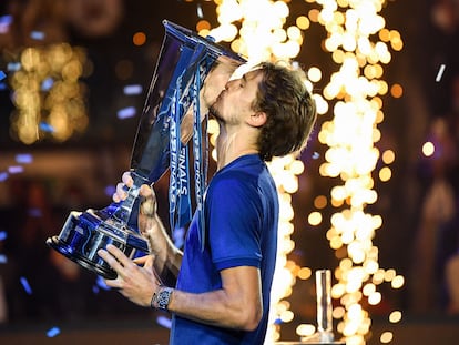
<instances>
[{"instance_id":1,"label":"face of the man kissing the tall trophy","mask_svg":"<svg viewBox=\"0 0 459 345\"><path fill-rule=\"evenodd\" d=\"M245 70L243 73L237 69L211 106L211 113L227 124L244 121L255 112L254 105L262 79L263 71L259 68Z\"/></svg>"}]
</instances>

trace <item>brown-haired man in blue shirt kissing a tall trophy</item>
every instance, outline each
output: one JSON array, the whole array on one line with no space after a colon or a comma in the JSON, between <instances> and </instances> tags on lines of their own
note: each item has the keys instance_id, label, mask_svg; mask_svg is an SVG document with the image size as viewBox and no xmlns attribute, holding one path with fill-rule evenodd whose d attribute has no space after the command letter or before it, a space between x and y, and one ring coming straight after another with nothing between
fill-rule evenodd
<instances>
[{"instance_id":1,"label":"brown-haired man in blue shirt kissing a tall trophy","mask_svg":"<svg viewBox=\"0 0 459 345\"><path fill-rule=\"evenodd\" d=\"M316 119L298 73L273 63L238 69L212 104L220 124L217 171L205 195L203 239L195 216L184 252L177 250L157 216L152 189L143 185L139 229L152 255L133 262L114 246L99 252L118 273L109 286L139 305L172 313L171 344L264 342L279 213L264 161L302 150ZM125 197L124 184L132 184L129 173L115 201ZM174 288L166 283L171 274Z\"/></svg>"}]
</instances>

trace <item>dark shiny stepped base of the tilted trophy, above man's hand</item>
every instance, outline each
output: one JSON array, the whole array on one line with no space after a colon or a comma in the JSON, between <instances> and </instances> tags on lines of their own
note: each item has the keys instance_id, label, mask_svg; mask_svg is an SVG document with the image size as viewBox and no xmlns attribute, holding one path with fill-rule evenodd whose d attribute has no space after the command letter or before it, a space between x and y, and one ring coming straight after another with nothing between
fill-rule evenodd
<instances>
[{"instance_id":1,"label":"dark shiny stepped base of the tilted trophy, above man's hand","mask_svg":"<svg viewBox=\"0 0 459 345\"><path fill-rule=\"evenodd\" d=\"M99 250L111 244L133 258L139 251L147 253L149 246L139 233L105 211L71 212L59 236L49 237L47 244L80 266L114 280L116 272L99 256Z\"/></svg>"}]
</instances>

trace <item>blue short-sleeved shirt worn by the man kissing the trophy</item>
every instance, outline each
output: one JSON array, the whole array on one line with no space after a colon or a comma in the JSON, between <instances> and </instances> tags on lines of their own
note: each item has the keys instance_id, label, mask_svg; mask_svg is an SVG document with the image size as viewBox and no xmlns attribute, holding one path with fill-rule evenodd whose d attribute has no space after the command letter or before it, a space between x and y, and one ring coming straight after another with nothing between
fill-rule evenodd
<instances>
[{"instance_id":1,"label":"blue short-sleeved shirt worn by the man kissing the trophy","mask_svg":"<svg viewBox=\"0 0 459 345\"><path fill-rule=\"evenodd\" d=\"M204 293L222 288L221 270L258 267L263 318L253 332L208 326L173 315L174 345L263 344L277 253L278 196L266 164L257 154L238 158L220 170L205 195L205 246L195 219L190 226L176 288Z\"/></svg>"}]
</instances>

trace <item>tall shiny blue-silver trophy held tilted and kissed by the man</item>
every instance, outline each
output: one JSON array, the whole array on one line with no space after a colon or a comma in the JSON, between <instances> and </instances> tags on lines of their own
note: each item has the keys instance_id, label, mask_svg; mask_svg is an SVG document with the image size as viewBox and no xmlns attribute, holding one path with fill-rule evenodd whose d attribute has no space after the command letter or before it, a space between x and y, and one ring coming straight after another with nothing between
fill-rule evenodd
<instances>
[{"instance_id":1,"label":"tall shiny blue-silver trophy held tilted and kissed by the man","mask_svg":"<svg viewBox=\"0 0 459 345\"><path fill-rule=\"evenodd\" d=\"M177 179L172 171L171 148L174 146L171 143L176 140L171 136L172 128L176 122L180 125L193 104L194 130L201 125L201 119L196 120L200 88L214 65L226 63L235 69L245 62L211 39L166 20L163 24L165 35L132 150L134 185L126 189L128 197L120 203L111 203L102 210L72 211L59 236L47 240L53 250L110 280L115 278L116 273L99 257L99 248L113 244L131 258L149 252L149 244L136 226L139 190L142 184L155 183L170 166L171 179ZM175 136L180 140L180 131Z\"/></svg>"}]
</instances>

